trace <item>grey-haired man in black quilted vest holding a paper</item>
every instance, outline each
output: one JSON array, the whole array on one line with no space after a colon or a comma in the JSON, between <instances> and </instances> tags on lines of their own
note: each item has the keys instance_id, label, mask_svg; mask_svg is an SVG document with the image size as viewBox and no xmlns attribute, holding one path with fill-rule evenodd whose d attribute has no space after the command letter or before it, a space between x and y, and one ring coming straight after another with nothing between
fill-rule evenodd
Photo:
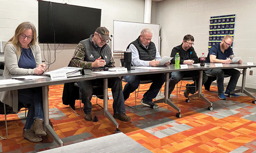
<instances>
[{"instance_id":1,"label":"grey-haired man in black quilted vest holding a paper","mask_svg":"<svg viewBox=\"0 0 256 153\"><path fill-rule=\"evenodd\" d=\"M141 31L141 35L131 44L128 45L127 49L132 52L132 65L133 66L151 66L157 67L160 63L161 56L158 52L156 45L151 42L153 31L150 28L145 28ZM170 61L165 63L168 66ZM150 74L150 75L138 75L138 76L125 76L127 84L124 87L123 94L124 99L127 100L130 93L134 92L140 84L141 80L152 80L152 84L143 95L141 104L157 108L158 105L153 103L159 90L165 82L165 74Z\"/></svg>"}]
</instances>

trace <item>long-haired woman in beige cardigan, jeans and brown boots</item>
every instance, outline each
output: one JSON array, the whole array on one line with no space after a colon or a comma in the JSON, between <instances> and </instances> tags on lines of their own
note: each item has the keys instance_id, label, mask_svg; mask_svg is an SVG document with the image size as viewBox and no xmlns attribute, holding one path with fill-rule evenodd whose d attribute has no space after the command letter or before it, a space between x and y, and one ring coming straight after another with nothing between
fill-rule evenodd
<instances>
[{"instance_id":1,"label":"long-haired woman in beige cardigan, jeans and brown boots","mask_svg":"<svg viewBox=\"0 0 256 153\"><path fill-rule=\"evenodd\" d=\"M9 75L40 75L44 73L45 64L41 63L41 51L36 44L36 28L30 22L23 22L15 30L14 36L4 47L4 72ZM42 141L46 136L43 129L44 111L42 87L4 91L0 100L18 112L18 102L28 104L28 115L23 137L32 142Z\"/></svg>"}]
</instances>

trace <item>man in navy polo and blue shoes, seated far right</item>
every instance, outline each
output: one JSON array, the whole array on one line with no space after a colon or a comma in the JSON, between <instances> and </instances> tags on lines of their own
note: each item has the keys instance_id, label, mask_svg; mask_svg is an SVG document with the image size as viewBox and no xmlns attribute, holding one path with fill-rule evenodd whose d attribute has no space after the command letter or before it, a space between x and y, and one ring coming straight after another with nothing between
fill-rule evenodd
<instances>
[{"instance_id":1,"label":"man in navy polo and blue shoes, seated far right","mask_svg":"<svg viewBox=\"0 0 256 153\"><path fill-rule=\"evenodd\" d=\"M232 59L235 57L232 48L230 47L233 43L233 37L230 35L225 35L221 43L218 43L211 47L207 55L206 63L223 63L231 64ZM230 59L228 59L230 58ZM238 61L239 64L242 64L243 60ZM218 97L222 100L227 100L225 95L229 95L230 92L234 91L237 85L240 72L236 69L213 69L205 71L206 74L214 75L217 77L217 86L218 86ZM231 78L228 82L228 86L224 93L224 75L230 75ZM233 93L230 94L233 97L239 97L239 95Z\"/></svg>"}]
</instances>

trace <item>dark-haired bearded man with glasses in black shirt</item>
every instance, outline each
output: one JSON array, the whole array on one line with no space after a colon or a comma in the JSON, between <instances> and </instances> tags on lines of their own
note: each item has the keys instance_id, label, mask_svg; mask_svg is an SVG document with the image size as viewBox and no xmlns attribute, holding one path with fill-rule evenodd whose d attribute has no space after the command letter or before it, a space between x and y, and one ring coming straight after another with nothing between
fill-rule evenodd
<instances>
[{"instance_id":1,"label":"dark-haired bearded man with glasses in black shirt","mask_svg":"<svg viewBox=\"0 0 256 153\"><path fill-rule=\"evenodd\" d=\"M198 63L198 57L197 53L195 52L194 48L192 47L194 45L194 37L192 35L185 35L182 41L182 44L174 47L172 49L171 57L175 57L177 53L180 55L180 64L187 64L192 65L193 63ZM172 58L171 60L172 64L175 64L175 58ZM172 94L172 91L175 88L175 85L181 81L183 77L192 77L194 81L196 81L196 88L195 87L189 87L189 86L195 86L195 82L193 84L187 84L186 90L184 91L184 96L188 97L189 93L194 94L198 90L198 81L199 81L199 71L182 71L182 72L172 72L170 75L169 80L169 95ZM207 81L207 75L203 73L203 81L202 85Z\"/></svg>"}]
</instances>

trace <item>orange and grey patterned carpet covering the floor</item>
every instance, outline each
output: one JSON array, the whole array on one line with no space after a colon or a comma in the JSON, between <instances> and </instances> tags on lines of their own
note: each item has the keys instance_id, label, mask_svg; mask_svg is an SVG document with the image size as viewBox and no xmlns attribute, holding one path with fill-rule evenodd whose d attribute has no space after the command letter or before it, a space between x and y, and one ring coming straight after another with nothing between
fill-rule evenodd
<instances>
[{"instance_id":1,"label":"orange and grey patterned carpet covering the floor","mask_svg":"<svg viewBox=\"0 0 256 153\"><path fill-rule=\"evenodd\" d=\"M149 86L141 85L140 89L148 89ZM181 94L184 90L182 88ZM217 87L212 86L211 90L217 91ZM49 86L50 119L64 145L114 134L115 126L103 115L98 116L98 122L85 121L83 115L77 117L69 106L62 104L62 91L63 85ZM205 91L204 87L202 92L217 95L216 92ZM176 89L172 94L171 99L176 100ZM206 96L213 103L213 111L209 111L209 104L201 99L191 99L186 103L186 98L178 95L178 102L174 103L181 109L181 118L177 118L177 111L167 104L160 103L159 108L151 109L142 106L137 98L137 109L126 107L131 122L117 122L121 132L154 153L255 153L256 105L252 104L252 98L239 95L239 98L228 100ZM157 96L159 98L161 96ZM109 99L109 110L113 114L110 89ZM98 100L98 103L103 101ZM92 114L101 110L96 98L92 99L92 104ZM135 105L134 93L125 104ZM76 101L76 112L79 114L79 100ZM32 143L23 138L24 112L7 115L7 120L9 138L0 139L0 152L33 153L58 147L55 142ZM6 137L4 121L4 115L0 115L0 135Z\"/></svg>"}]
</instances>

